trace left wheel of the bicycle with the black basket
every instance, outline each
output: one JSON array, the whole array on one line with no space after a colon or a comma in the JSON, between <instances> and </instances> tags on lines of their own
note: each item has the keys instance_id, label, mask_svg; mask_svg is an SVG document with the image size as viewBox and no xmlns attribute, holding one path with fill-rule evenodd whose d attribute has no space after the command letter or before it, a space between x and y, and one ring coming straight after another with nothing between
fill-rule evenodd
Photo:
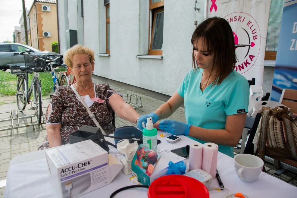
<instances>
[{"instance_id":1,"label":"left wheel of the bicycle with the black basket","mask_svg":"<svg viewBox=\"0 0 297 198\"><path fill-rule=\"evenodd\" d=\"M26 79L23 76L19 76L17 80L17 108L24 110L27 105L26 97Z\"/></svg>"}]
</instances>

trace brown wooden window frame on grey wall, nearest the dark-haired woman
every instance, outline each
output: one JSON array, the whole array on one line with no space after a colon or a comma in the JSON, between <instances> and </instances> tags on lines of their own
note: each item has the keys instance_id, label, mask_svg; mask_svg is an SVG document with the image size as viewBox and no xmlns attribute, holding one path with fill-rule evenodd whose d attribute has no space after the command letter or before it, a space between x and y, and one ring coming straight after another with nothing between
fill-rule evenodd
<instances>
[{"instance_id":1,"label":"brown wooden window frame on grey wall, nearest the dark-haired woman","mask_svg":"<svg viewBox=\"0 0 297 198\"><path fill-rule=\"evenodd\" d=\"M155 19L158 12L164 12L164 0L161 0L156 3L152 3L152 0L149 0L149 55L163 55L163 50L153 50L152 42L154 36L154 28L155 28ZM151 19L151 13L154 12L154 17ZM152 21L152 28L151 27ZM164 29L164 27L163 27Z\"/></svg>"}]
</instances>

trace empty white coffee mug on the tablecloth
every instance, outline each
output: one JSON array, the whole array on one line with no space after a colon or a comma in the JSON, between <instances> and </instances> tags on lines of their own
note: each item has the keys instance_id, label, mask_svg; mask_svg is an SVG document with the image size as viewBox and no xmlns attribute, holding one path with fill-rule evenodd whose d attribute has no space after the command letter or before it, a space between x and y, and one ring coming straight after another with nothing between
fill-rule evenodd
<instances>
[{"instance_id":1,"label":"empty white coffee mug on the tablecloth","mask_svg":"<svg viewBox=\"0 0 297 198\"><path fill-rule=\"evenodd\" d=\"M241 181L253 182L262 172L264 162L261 158L250 154L238 154L234 157L234 168Z\"/></svg>"}]
</instances>

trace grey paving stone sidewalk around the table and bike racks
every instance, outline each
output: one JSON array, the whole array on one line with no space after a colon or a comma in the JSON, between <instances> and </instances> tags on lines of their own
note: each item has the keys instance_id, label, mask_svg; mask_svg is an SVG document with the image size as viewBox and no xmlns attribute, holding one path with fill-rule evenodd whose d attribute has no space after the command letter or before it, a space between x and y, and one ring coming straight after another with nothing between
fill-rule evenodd
<instances>
[{"instance_id":1,"label":"grey paving stone sidewalk around the table and bike racks","mask_svg":"<svg viewBox=\"0 0 297 198\"><path fill-rule=\"evenodd\" d=\"M101 83L101 81L93 79L95 83ZM134 93L129 90L124 90L120 87L114 86L110 84L111 88L118 91L119 93L126 96L127 94ZM142 108L136 109L136 111L140 115L149 114L155 111L161 104L164 102L150 96L146 96L139 93L134 93L141 97L142 100ZM43 107L46 107L50 102L50 98L43 99ZM16 103L12 104L3 104L0 105L0 112L10 112L13 110L13 116L16 117L15 109L17 108ZM30 105L26 107L29 109ZM45 108L43 108L45 112ZM25 111L23 113L18 113L18 116L32 115L34 112L32 110ZM0 114L0 119L9 118L9 113ZM186 122L185 111L184 108L180 107L174 112L168 119L174 119L177 121ZM34 121L34 120L33 120ZM14 121L17 122L16 120ZM23 124L30 124L31 119L20 119L20 122ZM9 127L10 122L0 122L0 129ZM122 118L119 118L117 115L115 117L115 125L116 127L122 126L135 126L135 124L125 121ZM6 175L9 168L9 162L16 156L19 156L24 153L37 151L38 146L45 140L46 130L45 124L35 127L24 127L14 130L4 130L0 131L0 198L3 197L4 188L6 183ZM240 149L234 149L235 153L240 152ZM284 172L280 176L274 175L276 169L273 165L269 163L265 163L265 168L268 174L273 175L287 183L290 183L294 186L297 186L297 175L295 173L291 173L289 171Z\"/></svg>"}]
</instances>

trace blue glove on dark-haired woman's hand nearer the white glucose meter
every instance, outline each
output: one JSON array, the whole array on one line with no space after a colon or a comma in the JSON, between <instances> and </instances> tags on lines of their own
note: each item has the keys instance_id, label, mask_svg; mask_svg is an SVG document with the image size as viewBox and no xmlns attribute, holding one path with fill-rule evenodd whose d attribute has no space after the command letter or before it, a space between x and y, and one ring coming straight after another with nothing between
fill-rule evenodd
<instances>
[{"instance_id":1,"label":"blue glove on dark-haired woman's hand nearer the white glucose meter","mask_svg":"<svg viewBox=\"0 0 297 198\"><path fill-rule=\"evenodd\" d=\"M187 124L175 120L162 120L159 129L164 130L172 135L184 135L188 136L190 132L190 127L192 124Z\"/></svg>"}]
</instances>

